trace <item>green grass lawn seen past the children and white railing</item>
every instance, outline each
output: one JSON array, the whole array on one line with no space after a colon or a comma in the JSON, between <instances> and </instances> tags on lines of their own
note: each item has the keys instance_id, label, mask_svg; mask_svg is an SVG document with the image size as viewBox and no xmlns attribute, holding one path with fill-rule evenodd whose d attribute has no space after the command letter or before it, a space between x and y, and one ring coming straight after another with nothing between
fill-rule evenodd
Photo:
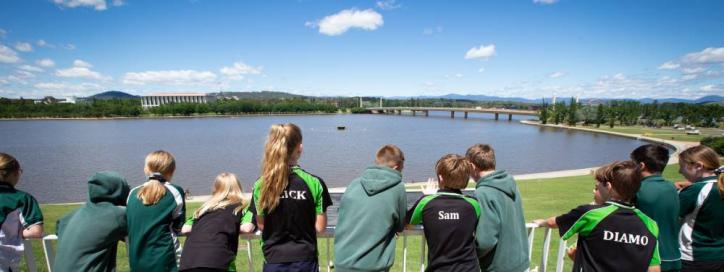
<instances>
[{"instance_id":1,"label":"green grass lawn seen past the children and white railing","mask_svg":"<svg viewBox=\"0 0 724 272\"><path fill-rule=\"evenodd\" d=\"M677 173L677 165L669 165L664 172L664 176L669 180L681 180L681 176ZM527 222L531 222L538 218L547 218L550 216L560 215L568 212L570 209L585 203L593 201L593 177L590 175L566 177L566 178L552 178L552 179L539 179L539 180L525 180L519 181L520 192L523 195L523 204L525 210L525 218ZM200 203L189 203L187 210L189 213L193 212L198 208ZM55 223L67 212L77 208L79 205L41 205L43 215L45 216L45 231L46 233L55 233ZM539 229L536 232L536 242L534 243L534 252L531 266L540 265L540 254L542 247L543 230ZM549 269L555 267L555 257L558 248L558 233L553 232L553 242L550 245L550 259L548 263ZM408 238L408 271L414 271L415 268L420 267L421 257L421 240L420 236L412 236ZM333 241L329 241L333 244ZM42 245L39 241L33 242L33 250L36 256L36 263L39 271L47 271L45 267L44 255ZM397 256L393 271L402 271L402 256L403 256L403 241L399 239L397 242ZM569 245L573 242L569 242ZM254 256L255 271L261 271L261 248L259 240L252 241L252 254ZM331 245L330 245L331 248ZM327 260L327 239L319 239L319 260L322 271L326 271L324 264ZM242 241L240 243L239 254L236 259L237 268L240 271L246 271L248 264L246 261L247 250L246 243ZM567 268L570 269L570 261L567 261ZM25 267L23 265L23 267ZM125 244L119 243L118 250L118 270L128 271L128 259L126 256Z\"/></svg>"}]
</instances>

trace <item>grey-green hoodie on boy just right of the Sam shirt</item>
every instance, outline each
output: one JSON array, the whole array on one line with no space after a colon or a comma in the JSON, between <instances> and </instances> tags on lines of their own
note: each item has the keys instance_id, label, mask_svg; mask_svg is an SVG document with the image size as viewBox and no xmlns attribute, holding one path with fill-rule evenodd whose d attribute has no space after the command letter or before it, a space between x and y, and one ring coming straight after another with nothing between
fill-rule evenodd
<instances>
[{"instance_id":1,"label":"grey-green hoodie on boy just right of the Sam shirt","mask_svg":"<svg viewBox=\"0 0 724 272\"><path fill-rule=\"evenodd\" d=\"M481 177L475 198L482 214L475 232L482 271L525 271L530 266L523 200L505 170Z\"/></svg>"}]
</instances>

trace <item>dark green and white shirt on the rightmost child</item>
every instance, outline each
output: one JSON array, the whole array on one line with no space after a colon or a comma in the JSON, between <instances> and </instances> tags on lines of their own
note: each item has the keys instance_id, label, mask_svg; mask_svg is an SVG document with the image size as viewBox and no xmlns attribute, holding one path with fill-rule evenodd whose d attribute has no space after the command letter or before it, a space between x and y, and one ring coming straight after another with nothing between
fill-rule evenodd
<instances>
[{"instance_id":1,"label":"dark green and white shirt on the rightmost child","mask_svg":"<svg viewBox=\"0 0 724 272\"><path fill-rule=\"evenodd\" d=\"M682 260L724 261L724 199L716 182L705 177L679 192Z\"/></svg>"}]
</instances>

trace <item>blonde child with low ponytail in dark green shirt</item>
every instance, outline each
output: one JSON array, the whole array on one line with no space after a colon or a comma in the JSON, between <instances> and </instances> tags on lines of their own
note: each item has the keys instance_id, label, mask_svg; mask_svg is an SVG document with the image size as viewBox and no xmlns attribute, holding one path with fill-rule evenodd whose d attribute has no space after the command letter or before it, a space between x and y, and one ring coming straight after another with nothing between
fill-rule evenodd
<instances>
[{"instance_id":1,"label":"blonde child with low ponytail in dark green shirt","mask_svg":"<svg viewBox=\"0 0 724 272\"><path fill-rule=\"evenodd\" d=\"M128 196L128 260L132 271L178 271L176 236L186 217L184 190L171 184L176 161L158 150L146 156L147 181Z\"/></svg>"}]
</instances>

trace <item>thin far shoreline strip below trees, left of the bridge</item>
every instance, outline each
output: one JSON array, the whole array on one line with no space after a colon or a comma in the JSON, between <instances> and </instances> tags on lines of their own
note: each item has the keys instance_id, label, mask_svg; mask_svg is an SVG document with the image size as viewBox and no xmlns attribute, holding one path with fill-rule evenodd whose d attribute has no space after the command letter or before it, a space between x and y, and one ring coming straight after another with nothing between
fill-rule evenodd
<instances>
[{"instance_id":1,"label":"thin far shoreline strip below trees, left of the bridge","mask_svg":"<svg viewBox=\"0 0 724 272\"><path fill-rule=\"evenodd\" d=\"M299 116L299 115L337 115L352 114L348 112L287 112L287 113L245 113L245 114L204 114L204 115L153 115L153 116L116 116L116 117L28 117L28 118L0 118L0 121L43 121L43 120L69 120L69 121L96 121L96 120L144 120L144 119L190 119L190 118L232 118L232 117L258 117L258 116Z\"/></svg>"}]
</instances>

